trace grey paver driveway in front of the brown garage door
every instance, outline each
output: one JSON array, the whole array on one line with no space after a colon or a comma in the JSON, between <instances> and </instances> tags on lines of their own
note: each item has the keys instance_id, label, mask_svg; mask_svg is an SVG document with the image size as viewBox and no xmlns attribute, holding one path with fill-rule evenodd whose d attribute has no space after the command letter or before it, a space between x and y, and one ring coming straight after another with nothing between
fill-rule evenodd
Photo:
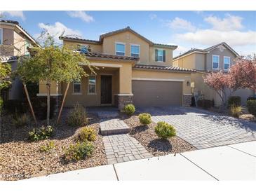
<instances>
[{"instance_id":1,"label":"grey paver driveway in front of the brown garage door","mask_svg":"<svg viewBox=\"0 0 256 192\"><path fill-rule=\"evenodd\" d=\"M150 107L137 109L148 112L152 121L166 121L177 129L177 136L204 149L256 140L256 123L191 107Z\"/></svg>"}]
</instances>

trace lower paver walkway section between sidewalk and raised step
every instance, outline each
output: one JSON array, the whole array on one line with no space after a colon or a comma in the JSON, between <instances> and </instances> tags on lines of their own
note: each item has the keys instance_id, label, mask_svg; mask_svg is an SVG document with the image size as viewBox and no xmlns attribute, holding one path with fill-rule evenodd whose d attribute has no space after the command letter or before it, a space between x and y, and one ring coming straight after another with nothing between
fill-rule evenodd
<instances>
[{"instance_id":1,"label":"lower paver walkway section between sidewalk and raised step","mask_svg":"<svg viewBox=\"0 0 256 192\"><path fill-rule=\"evenodd\" d=\"M128 134L104 136L103 143L108 164L152 157L140 142Z\"/></svg>"}]
</instances>

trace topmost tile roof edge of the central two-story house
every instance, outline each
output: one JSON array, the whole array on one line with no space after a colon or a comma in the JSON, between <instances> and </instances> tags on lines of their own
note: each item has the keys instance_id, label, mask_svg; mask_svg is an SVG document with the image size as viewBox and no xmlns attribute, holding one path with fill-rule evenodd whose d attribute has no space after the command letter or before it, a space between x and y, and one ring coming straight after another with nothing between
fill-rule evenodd
<instances>
[{"instance_id":1,"label":"topmost tile roof edge of the central two-story house","mask_svg":"<svg viewBox=\"0 0 256 192\"><path fill-rule=\"evenodd\" d=\"M76 41L84 41L86 43L101 44L105 37L112 36L114 34L118 34L118 33L121 33L121 32L131 32L133 34L136 34L137 36L140 36L141 39L144 39L144 41L147 41L151 46L158 46L158 47L161 47L161 48L177 48L177 46L173 46L173 45L153 43L152 41L150 41L149 39L145 38L141 34L138 34L137 32L135 32L133 29L130 29L130 27L126 27L126 28L119 29L119 30L116 30L116 31L113 31L113 32L108 32L106 34L102 34L102 35L100 35L99 41L90 40L90 39L81 39L81 38L78 38L78 37L70 37L70 36L60 36L59 39L70 39L70 40L76 40Z\"/></svg>"}]
</instances>

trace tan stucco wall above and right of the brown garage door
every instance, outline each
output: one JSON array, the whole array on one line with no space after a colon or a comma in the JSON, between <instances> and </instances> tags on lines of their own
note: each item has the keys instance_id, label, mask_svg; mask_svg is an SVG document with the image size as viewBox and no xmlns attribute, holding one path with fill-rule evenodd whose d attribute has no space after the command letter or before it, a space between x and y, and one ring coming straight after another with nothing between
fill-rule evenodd
<instances>
[{"instance_id":1,"label":"tan stucco wall above and right of the brown garage door","mask_svg":"<svg viewBox=\"0 0 256 192\"><path fill-rule=\"evenodd\" d=\"M187 81L191 82L191 74L166 72L166 71L145 71L145 70L133 70L133 78L168 78L184 80L182 83L182 93L191 94L190 85L187 86Z\"/></svg>"}]
</instances>

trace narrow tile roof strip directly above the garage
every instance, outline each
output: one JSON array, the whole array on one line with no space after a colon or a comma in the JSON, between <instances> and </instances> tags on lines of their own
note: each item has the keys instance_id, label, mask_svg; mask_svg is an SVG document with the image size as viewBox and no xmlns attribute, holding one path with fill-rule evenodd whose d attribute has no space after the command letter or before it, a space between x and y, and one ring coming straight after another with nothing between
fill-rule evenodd
<instances>
[{"instance_id":1,"label":"narrow tile roof strip directly above the garage","mask_svg":"<svg viewBox=\"0 0 256 192\"><path fill-rule=\"evenodd\" d=\"M137 68L137 69L156 69L156 70L166 70L166 71L196 72L196 70L194 70L194 69L185 69L185 68L182 68L182 67L158 66L158 65L147 65L147 64L135 64L134 68Z\"/></svg>"}]
</instances>

